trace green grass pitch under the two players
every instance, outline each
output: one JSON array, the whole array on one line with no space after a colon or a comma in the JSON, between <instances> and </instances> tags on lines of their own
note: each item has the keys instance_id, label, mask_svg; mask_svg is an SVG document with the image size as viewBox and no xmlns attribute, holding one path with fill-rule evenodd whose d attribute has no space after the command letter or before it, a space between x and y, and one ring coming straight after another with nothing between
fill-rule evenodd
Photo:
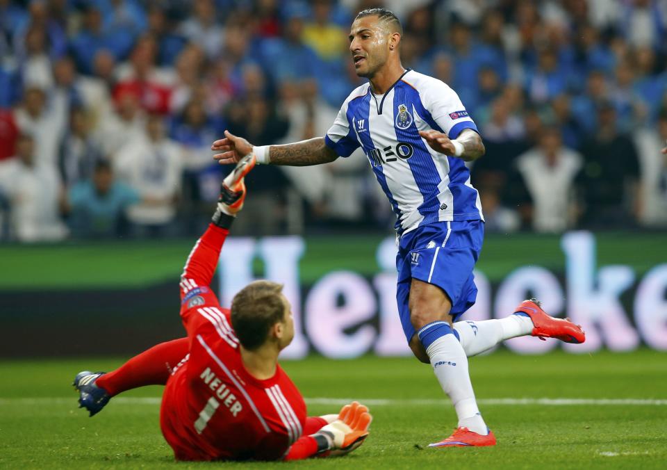
<instances>
[{"instance_id":1,"label":"green grass pitch under the two players","mask_svg":"<svg viewBox=\"0 0 667 470\"><path fill-rule=\"evenodd\" d=\"M285 362L310 414L337 412L336 399L359 398L374 416L370 437L352 455L292 463L174 462L158 425L160 387L114 398L88 418L76 408L74 374L121 361L0 362L0 468L667 468L667 355L650 350L545 356L500 350L471 358L480 408L498 440L493 448L427 448L447 437L456 420L429 366L414 359ZM542 398L563 400L536 402Z\"/></svg>"}]
</instances>

